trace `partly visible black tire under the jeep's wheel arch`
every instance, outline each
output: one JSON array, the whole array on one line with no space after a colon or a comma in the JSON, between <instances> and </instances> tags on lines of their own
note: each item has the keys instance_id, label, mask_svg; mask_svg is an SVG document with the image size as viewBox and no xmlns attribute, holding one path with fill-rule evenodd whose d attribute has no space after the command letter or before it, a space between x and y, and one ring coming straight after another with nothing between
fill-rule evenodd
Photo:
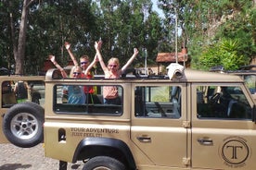
<instances>
[{"instance_id":1,"label":"partly visible black tire under the jeep's wheel arch","mask_svg":"<svg viewBox=\"0 0 256 170\"><path fill-rule=\"evenodd\" d=\"M83 170L126 170L124 164L109 156L96 156L83 165Z\"/></svg>"}]
</instances>

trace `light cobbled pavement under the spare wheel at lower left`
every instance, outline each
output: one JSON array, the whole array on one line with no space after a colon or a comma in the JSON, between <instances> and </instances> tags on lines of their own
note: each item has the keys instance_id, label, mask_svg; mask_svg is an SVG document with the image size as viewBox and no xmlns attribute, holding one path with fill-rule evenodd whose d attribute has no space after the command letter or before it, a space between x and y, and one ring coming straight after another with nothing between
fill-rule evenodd
<instances>
[{"instance_id":1,"label":"light cobbled pavement under the spare wheel at lower left","mask_svg":"<svg viewBox=\"0 0 256 170\"><path fill-rule=\"evenodd\" d=\"M68 164L68 170L81 170L83 163ZM42 144L33 148L19 148L0 144L0 170L58 170L58 160L45 157Z\"/></svg>"}]
</instances>

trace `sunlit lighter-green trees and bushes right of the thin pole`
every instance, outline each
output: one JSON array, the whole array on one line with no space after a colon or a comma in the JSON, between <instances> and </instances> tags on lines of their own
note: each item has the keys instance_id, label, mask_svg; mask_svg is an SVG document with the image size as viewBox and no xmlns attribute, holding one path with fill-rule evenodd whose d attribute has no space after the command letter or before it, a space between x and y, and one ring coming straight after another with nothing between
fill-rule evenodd
<instances>
[{"instance_id":1,"label":"sunlit lighter-green trees and bushes right of the thin pole","mask_svg":"<svg viewBox=\"0 0 256 170\"><path fill-rule=\"evenodd\" d=\"M201 54L209 54L214 51L222 52L222 42L237 42L240 44L239 49L232 52L238 58L243 58L243 62L236 62L231 58L226 62L229 68L236 69L241 65L248 65L250 60L255 57L255 36L253 31L253 12L255 4L247 0L225 0L225 1L187 1L184 16L186 18L186 33L189 37L188 48L192 55L192 67L202 68L205 62L201 62ZM221 54L220 54L221 55ZM215 61L212 55L212 60ZM227 54L221 55L226 58ZM200 58L199 58L200 57ZM235 57L236 58L236 57ZM209 58L210 59L210 58ZM217 65L218 63L216 63ZM206 65L207 66L207 65ZM231 67L233 66L233 67Z\"/></svg>"}]
</instances>

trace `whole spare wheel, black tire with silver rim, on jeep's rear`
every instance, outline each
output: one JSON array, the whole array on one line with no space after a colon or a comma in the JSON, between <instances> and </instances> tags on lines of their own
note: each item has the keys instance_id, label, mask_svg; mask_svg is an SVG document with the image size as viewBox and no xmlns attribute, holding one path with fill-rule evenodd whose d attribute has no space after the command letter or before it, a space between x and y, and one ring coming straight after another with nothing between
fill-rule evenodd
<instances>
[{"instance_id":1,"label":"whole spare wheel, black tire with silver rim, on jeep's rear","mask_svg":"<svg viewBox=\"0 0 256 170\"><path fill-rule=\"evenodd\" d=\"M3 119L6 139L21 148L31 148L44 140L45 110L36 103L18 103Z\"/></svg>"}]
</instances>

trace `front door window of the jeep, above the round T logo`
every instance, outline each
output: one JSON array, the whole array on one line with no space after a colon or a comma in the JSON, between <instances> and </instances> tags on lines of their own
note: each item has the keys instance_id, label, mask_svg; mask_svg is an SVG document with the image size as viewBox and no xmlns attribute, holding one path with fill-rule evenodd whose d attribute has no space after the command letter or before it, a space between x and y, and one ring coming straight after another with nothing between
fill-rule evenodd
<instances>
[{"instance_id":1,"label":"front door window of the jeep, above the round T logo","mask_svg":"<svg viewBox=\"0 0 256 170\"><path fill-rule=\"evenodd\" d=\"M235 86L198 86L198 118L251 119L250 103Z\"/></svg>"}]
</instances>

